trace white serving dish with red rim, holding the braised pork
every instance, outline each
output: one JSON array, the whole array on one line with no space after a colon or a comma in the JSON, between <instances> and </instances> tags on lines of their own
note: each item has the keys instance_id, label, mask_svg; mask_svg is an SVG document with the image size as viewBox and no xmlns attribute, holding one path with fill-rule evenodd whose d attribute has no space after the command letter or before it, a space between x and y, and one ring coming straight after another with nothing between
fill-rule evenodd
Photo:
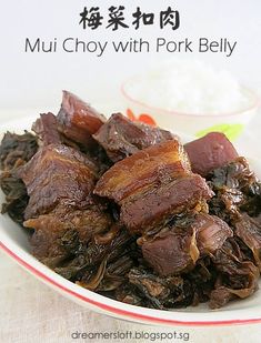
<instances>
[{"instance_id":1,"label":"white serving dish with red rim, holding the braised pork","mask_svg":"<svg viewBox=\"0 0 261 343\"><path fill-rule=\"evenodd\" d=\"M21 117L20 117L21 118ZM9 121L2 121L0 131L17 130L21 125L30 128L32 117ZM261 162L251 160L252 167L261 176ZM3 194L0 194L3 202ZM207 304L175 311L151 310L140 306L124 304L109 297L88 291L54 273L44 264L36 260L30 253L28 234L8 215L0 215L0 248L18 264L32 275L48 284L54 291L71 299L72 301L93 311L114 317L148 323L155 325L189 325L189 326L213 326L261 323L261 290L245 300L230 302L227 306L211 311ZM261 283L260 283L261 285Z\"/></svg>"}]
</instances>

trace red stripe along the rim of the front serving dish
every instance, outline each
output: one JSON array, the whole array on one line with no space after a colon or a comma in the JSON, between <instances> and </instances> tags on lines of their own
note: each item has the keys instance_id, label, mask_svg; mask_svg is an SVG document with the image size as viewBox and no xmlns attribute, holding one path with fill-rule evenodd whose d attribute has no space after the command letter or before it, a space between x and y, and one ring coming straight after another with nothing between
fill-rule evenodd
<instances>
[{"instance_id":1,"label":"red stripe along the rim of the front serving dish","mask_svg":"<svg viewBox=\"0 0 261 343\"><path fill-rule=\"evenodd\" d=\"M37 270L34 266L32 266L30 263L18 256L13 251L11 251L8 246L6 246L2 242L0 242L0 248L16 262L20 265L22 265L26 270L44 281L46 283L57 287L60 291L63 291L81 301L84 301L89 303L90 305L96 306L99 310L103 310L109 312L110 314L114 315L121 315L124 316L127 320L139 320L140 323L148 323L151 322L151 324L162 324L162 325L184 325L184 326L218 326L218 325L238 325L238 324L258 324L261 323L261 317L257 319L249 319L249 320L224 320L224 321L178 321L178 320L167 320L167 319L161 319L157 316L151 316L151 315L144 315L144 314L139 314L134 313L131 311L122 310L122 309L117 309L111 305L103 304L102 302L94 301L88 296L84 296L82 294L79 294L69 287L60 284L59 282L52 280L49 278L47 274L43 272L40 272Z\"/></svg>"}]
</instances>

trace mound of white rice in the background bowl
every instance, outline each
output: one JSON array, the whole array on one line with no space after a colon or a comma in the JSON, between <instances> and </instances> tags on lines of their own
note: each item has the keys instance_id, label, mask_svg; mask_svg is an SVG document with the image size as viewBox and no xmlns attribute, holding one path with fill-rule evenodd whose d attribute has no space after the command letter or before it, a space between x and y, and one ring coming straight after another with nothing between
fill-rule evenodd
<instances>
[{"instance_id":1,"label":"mound of white rice in the background bowl","mask_svg":"<svg viewBox=\"0 0 261 343\"><path fill-rule=\"evenodd\" d=\"M126 90L150 107L197 114L234 112L250 101L228 71L194 60L160 64L130 81Z\"/></svg>"}]
</instances>

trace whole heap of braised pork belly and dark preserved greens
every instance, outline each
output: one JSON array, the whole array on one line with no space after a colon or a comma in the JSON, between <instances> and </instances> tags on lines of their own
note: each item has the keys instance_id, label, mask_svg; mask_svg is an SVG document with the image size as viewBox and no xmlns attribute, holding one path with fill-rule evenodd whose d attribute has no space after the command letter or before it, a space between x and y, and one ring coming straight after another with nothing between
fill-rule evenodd
<instances>
[{"instance_id":1,"label":"whole heap of braised pork belly and dark preserved greens","mask_svg":"<svg viewBox=\"0 0 261 343\"><path fill-rule=\"evenodd\" d=\"M0 147L2 212L33 255L133 305L211 309L258 289L261 183L222 133L182 145L70 92Z\"/></svg>"}]
</instances>

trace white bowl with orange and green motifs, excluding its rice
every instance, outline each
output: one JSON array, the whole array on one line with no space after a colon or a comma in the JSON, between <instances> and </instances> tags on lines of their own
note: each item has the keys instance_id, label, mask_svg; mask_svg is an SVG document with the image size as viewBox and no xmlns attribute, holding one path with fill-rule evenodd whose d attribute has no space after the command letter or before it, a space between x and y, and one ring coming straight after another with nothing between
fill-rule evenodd
<instances>
[{"instance_id":1,"label":"white bowl with orange and green motifs, excluding its rice","mask_svg":"<svg viewBox=\"0 0 261 343\"><path fill-rule=\"evenodd\" d=\"M260 107L260 98L255 92L241 88L242 94L249 99L248 105L233 112L213 113L185 113L179 110L155 108L139 101L130 95L129 85L137 82L139 77L127 80L121 85L124 102L124 114L132 120L149 124L157 124L167 130L175 130L200 138L208 132L219 131L227 134L230 140L241 135L248 123L254 118ZM189 100L188 100L189 101Z\"/></svg>"}]
</instances>

